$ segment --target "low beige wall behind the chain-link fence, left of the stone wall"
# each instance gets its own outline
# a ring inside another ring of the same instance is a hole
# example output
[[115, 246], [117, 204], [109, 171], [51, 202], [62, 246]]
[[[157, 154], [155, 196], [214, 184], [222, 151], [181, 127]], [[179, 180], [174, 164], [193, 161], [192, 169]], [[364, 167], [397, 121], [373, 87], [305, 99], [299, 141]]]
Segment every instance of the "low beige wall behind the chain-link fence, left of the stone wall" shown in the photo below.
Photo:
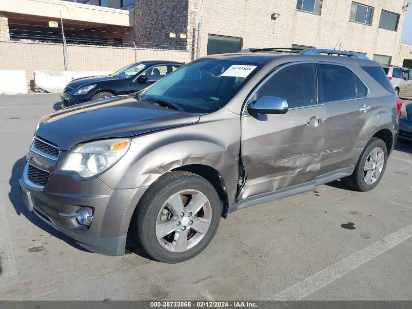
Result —
[[[137, 61], [190, 62], [191, 53], [177, 50], [134, 49], [91, 45], [68, 45], [68, 69], [73, 71], [117, 71]], [[35, 70], [63, 71], [62, 44], [0, 41], [0, 69], [26, 71], [26, 85], [34, 89]]]

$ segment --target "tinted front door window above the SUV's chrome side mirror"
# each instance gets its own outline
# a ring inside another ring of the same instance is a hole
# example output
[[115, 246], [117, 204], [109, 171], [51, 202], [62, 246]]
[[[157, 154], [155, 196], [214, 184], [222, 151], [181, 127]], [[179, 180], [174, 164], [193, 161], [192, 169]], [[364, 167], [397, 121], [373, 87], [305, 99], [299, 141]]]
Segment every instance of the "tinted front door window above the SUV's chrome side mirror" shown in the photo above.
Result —
[[295, 64], [281, 69], [259, 88], [254, 99], [263, 96], [286, 99], [289, 108], [316, 104], [314, 64]]

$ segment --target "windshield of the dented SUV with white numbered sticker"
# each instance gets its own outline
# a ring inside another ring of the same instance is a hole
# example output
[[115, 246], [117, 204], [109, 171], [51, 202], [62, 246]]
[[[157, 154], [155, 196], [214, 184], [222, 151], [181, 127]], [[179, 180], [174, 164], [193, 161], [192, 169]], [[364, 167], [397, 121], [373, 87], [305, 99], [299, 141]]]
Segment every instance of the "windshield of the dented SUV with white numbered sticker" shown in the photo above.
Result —
[[228, 103], [258, 67], [256, 63], [204, 59], [167, 75], [141, 97], [172, 102], [186, 112], [210, 113]]

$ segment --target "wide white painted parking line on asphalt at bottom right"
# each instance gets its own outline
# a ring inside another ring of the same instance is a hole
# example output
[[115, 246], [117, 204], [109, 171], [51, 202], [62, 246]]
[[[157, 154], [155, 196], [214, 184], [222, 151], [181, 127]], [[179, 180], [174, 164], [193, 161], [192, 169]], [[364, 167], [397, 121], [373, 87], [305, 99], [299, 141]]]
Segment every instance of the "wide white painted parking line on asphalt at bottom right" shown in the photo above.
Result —
[[412, 224], [286, 288], [268, 300], [300, 300], [411, 237]]

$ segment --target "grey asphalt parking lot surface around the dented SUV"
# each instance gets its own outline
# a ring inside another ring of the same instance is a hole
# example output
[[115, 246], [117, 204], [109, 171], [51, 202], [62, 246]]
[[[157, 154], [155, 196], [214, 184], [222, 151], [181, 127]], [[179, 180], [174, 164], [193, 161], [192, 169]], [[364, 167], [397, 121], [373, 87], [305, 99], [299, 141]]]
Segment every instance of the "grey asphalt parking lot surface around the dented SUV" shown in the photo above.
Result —
[[168, 265], [133, 243], [85, 251], [27, 211], [24, 156], [54, 108], [56, 94], [0, 96], [0, 300], [412, 300], [412, 144], [373, 191], [336, 181], [236, 211], [199, 256]]

